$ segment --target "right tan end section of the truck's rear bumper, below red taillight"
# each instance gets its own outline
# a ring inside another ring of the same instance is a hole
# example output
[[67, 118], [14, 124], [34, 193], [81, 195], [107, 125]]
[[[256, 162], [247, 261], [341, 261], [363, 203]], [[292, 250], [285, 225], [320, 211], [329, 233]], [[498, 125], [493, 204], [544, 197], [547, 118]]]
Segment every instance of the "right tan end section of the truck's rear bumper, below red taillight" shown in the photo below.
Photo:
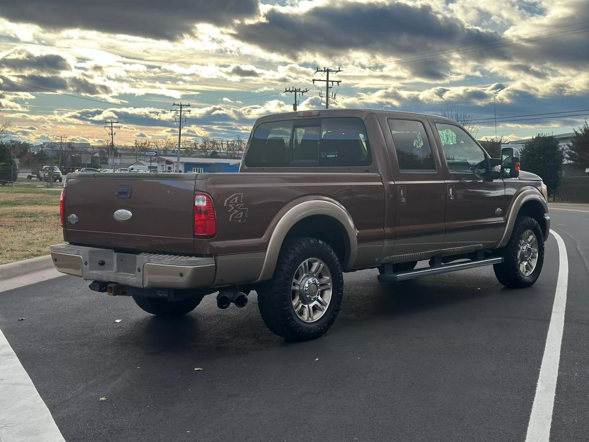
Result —
[[215, 265], [170, 266], [147, 263], [143, 266], [143, 287], [185, 289], [209, 287], [215, 278]]

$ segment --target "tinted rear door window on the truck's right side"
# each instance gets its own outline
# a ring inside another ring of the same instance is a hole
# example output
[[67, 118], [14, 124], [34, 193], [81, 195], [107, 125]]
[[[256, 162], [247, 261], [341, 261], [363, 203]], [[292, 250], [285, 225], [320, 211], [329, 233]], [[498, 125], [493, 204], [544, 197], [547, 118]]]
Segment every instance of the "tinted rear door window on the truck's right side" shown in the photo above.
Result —
[[436, 170], [432, 149], [421, 121], [388, 120], [399, 170]]

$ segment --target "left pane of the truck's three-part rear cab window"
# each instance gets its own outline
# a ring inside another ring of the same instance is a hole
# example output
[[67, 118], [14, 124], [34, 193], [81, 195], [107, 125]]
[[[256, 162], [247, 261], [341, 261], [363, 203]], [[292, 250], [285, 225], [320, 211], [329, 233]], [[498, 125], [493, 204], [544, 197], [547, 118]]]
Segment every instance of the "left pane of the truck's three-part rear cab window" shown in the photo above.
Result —
[[246, 166], [289, 166], [292, 128], [292, 121], [270, 121], [260, 124], [247, 150]]

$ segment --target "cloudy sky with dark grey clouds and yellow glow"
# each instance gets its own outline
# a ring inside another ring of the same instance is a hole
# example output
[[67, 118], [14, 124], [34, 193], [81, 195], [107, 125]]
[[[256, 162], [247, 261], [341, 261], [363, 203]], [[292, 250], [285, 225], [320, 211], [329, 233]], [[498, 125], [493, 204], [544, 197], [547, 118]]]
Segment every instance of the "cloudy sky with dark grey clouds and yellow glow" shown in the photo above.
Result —
[[292, 110], [285, 87], [309, 88], [301, 109], [325, 105], [317, 66], [343, 70], [331, 107], [452, 104], [479, 138], [495, 134], [494, 95], [508, 139], [589, 116], [588, 0], [127, 3], [0, 2], [0, 114], [16, 137], [97, 143], [107, 119], [120, 121], [117, 143], [175, 136], [179, 101], [187, 137], [248, 133]]

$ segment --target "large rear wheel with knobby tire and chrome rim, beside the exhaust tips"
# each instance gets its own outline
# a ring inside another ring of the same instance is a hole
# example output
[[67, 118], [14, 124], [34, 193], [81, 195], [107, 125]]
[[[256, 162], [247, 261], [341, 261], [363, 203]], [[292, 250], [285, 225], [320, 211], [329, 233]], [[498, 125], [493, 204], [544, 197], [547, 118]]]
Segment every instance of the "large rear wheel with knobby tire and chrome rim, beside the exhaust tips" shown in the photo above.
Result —
[[342, 266], [320, 239], [287, 239], [274, 276], [257, 293], [270, 331], [292, 341], [319, 338], [335, 322], [342, 304]]

